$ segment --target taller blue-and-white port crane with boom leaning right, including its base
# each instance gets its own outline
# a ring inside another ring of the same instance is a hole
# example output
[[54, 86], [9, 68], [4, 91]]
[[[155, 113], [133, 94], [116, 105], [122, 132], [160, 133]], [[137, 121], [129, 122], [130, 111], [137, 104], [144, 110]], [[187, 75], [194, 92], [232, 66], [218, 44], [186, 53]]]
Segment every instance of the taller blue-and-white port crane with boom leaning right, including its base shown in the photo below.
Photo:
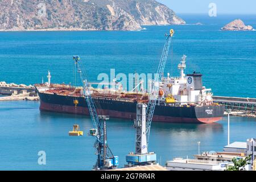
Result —
[[156, 154], [148, 152], [148, 139], [150, 136], [150, 127], [154, 115], [156, 100], [158, 99], [159, 83], [162, 80], [164, 68], [168, 57], [168, 52], [172, 42], [174, 30], [170, 30], [170, 34], [166, 34], [166, 43], [164, 44], [162, 56], [158, 65], [158, 71], [154, 77], [153, 86], [150, 93], [148, 104], [137, 104], [137, 117], [134, 119], [134, 127], [136, 129], [135, 154], [130, 152], [126, 155], [126, 167], [143, 166], [155, 163]]

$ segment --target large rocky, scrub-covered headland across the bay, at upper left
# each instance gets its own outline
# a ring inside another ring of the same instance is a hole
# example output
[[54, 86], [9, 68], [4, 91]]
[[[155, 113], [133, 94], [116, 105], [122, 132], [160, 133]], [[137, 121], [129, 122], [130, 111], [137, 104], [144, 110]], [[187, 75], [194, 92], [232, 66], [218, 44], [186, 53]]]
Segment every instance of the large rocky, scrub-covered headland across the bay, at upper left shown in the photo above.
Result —
[[1, 31], [139, 30], [185, 23], [155, 0], [2, 0], [0, 5]]

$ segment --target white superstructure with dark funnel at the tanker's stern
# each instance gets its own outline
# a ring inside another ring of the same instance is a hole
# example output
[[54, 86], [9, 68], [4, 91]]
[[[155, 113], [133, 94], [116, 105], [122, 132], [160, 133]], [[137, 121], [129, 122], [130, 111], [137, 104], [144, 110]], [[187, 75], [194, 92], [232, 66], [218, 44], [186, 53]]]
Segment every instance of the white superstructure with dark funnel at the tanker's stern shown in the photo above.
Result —
[[[211, 105], [212, 90], [206, 89], [202, 84], [202, 75], [197, 72], [185, 75], [186, 57], [183, 55], [180, 64], [177, 66], [180, 69], [179, 77], [162, 78], [160, 83], [160, 100], [165, 98], [173, 98], [175, 102], [172, 105]], [[168, 102], [167, 102], [168, 104]]]

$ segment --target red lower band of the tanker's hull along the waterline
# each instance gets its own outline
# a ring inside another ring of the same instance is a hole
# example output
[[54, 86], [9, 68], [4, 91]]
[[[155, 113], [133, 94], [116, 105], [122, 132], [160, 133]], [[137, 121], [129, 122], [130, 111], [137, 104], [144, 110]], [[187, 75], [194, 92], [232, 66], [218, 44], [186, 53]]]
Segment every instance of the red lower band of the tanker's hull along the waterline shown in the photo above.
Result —
[[[40, 101], [40, 110], [44, 111], [53, 111], [59, 113], [77, 113], [77, 114], [85, 114], [89, 115], [89, 110], [87, 107], [80, 106], [67, 106], [67, 105], [58, 105], [58, 104], [48, 104], [46, 102]], [[116, 110], [105, 110], [99, 109], [97, 110], [98, 114], [101, 115], [109, 115], [109, 117], [113, 118], [122, 118], [122, 119], [135, 119], [135, 113], [127, 113]], [[175, 122], [175, 123], [213, 123], [217, 122], [222, 117], [216, 118], [181, 118], [181, 117], [171, 117], [171, 116], [162, 116], [162, 115], [154, 115], [152, 121], [156, 122]]]

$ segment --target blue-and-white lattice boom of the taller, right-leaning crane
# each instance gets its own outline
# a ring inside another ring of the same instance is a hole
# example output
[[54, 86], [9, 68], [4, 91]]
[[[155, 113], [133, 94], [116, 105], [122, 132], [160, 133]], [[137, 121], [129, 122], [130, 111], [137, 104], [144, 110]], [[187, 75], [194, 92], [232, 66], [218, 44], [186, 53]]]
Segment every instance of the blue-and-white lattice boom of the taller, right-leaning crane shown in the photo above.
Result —
[[153, 88], [150, 95], [150, 100], [147, 104], [147, 110], [146, 110], [146, 133], [147, 133], [147, 145], [148, 145], [148, 139], [150, 136], [150, 128], [151, 128], [151, 122], [154, 115], [156, 100], [158, 98], [158, 92], [159, 92], [159, 82], [162, 80], [163, 74], [164, 74], [164, 68], [166, 67], [166, 61], [168, 57], [168, 52], [171, 46], [171, 40], [172, 36], [174, 35], [174, 30], [170, 30], [170, 34], [166, 34], [166, 43], [164, 44], [162, 56], [158, 65], [158, 71], [156, 72], [154, 82], [153, 82]]

